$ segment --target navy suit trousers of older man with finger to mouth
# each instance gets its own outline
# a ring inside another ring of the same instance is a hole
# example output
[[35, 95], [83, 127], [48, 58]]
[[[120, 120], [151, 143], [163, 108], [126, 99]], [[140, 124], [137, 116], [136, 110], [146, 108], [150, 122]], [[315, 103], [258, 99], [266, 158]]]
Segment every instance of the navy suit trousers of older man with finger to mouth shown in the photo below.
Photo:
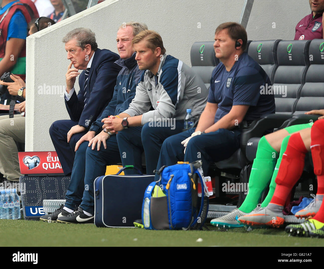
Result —
[[78, 125], [77, 121], [67, 119], [54, 121], [50, 127], [50, 136], [62, 165], [64, 175], [71, 174], [75, 157], [75, 144], [83, 135], [87, 133], [87, 131], [85, 131], [74, 134], [68, 143], [67, 132], [75, 125]]

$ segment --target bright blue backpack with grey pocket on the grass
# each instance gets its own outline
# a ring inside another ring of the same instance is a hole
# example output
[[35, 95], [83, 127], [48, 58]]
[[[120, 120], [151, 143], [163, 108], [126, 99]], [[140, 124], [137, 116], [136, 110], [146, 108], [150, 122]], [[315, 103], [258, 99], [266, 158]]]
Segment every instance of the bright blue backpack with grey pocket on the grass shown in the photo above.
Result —
[[[202, 161], [178, 162], [163, 166], [158, 181], [147, 186], [142, 220], [145, 229], [202, 229], [208, 213], [208, 191], [204, 182]], [[198, 182], [202, 197], [198, 197]]]

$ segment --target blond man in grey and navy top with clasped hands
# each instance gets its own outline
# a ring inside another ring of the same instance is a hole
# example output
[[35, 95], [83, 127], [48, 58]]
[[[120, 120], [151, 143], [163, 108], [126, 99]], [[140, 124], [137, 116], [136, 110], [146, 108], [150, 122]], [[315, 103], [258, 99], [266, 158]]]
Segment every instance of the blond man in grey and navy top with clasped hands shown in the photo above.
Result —
[[[201, 115], [208, 92], [203, 80], [189, 66], [166, 55], [158, 33], [143, 31], [132, 43], [139, 68], [146, 70], [129, 108], [118, 115], [120, 118], [105, 120], [104, 127], [118, 132], [123, 166], [140, 160], [144, 148], [146, 173], [153, 174], [163, 141], [182, 131], [187, 108], [191, 108], [193, 117]], [[141, 133], [135, 134], [136, 126], [143, 126]], [[126, 170], [125, 174], [128, 173], [132, 172]]]

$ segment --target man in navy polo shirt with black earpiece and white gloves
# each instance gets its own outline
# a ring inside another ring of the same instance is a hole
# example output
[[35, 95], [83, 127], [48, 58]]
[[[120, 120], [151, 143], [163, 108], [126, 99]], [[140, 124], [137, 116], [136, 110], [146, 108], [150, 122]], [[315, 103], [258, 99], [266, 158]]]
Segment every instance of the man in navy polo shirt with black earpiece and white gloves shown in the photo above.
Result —
[[[157, 170], [178, 161], [209, 162], [229, 158], [238, 148], [241, 126], [275, 112], [274, 96], [260, 89], [271, 81], [246, 52], [247, 33], [236, 22], [220, 24], [215, 31], [215, 67], [206, 107], [196, 128], [167, 138], [162, 145]], [[158, 179], [158, 175], [156, 175]]]

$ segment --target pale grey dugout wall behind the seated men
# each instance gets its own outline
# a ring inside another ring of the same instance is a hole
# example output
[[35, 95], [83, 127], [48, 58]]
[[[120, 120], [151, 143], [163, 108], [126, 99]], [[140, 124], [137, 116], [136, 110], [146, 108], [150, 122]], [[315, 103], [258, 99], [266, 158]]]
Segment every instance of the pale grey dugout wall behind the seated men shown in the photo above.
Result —
[[[117, 53], [116, 33], [123, 22], [139, 21], [159, 32], [167, 53], [190, 66], [196, 41], [213, 41], [220, 23], [239, 21], [244, 0], [106, 0], [27, 38], [26, 151], [52, 151], [53, 121], [68, 119], [63, 92], [69, 60], [62, 37], [88, 27], [99, 48]], [[310, 14], [308, 1], [255, 0], [247, 26], [249, 40], [294, 39], [295, 26]], [[78, 91], [76, 81], [75, 88]]]

